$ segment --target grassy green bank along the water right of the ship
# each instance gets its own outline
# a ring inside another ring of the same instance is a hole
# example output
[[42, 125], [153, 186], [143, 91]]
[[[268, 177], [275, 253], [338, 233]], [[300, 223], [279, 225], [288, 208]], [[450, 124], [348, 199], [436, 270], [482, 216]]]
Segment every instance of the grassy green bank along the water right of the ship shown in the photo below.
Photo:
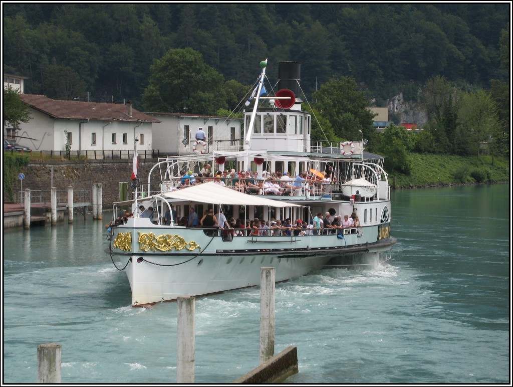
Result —
[[491, 156], [460, 157], [408, 154], [410, 175], [392, 172], [397, 187], [426, 187], [452, 184], [499, 183], [509, 181], [509, 159]]

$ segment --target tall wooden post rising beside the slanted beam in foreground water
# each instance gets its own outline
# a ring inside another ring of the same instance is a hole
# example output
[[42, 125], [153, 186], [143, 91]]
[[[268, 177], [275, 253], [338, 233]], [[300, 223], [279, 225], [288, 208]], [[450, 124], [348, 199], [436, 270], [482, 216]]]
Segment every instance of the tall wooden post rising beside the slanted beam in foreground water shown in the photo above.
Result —
[[261, 267], [260, 275], [260, 364], [274, 356], [275, 267]]

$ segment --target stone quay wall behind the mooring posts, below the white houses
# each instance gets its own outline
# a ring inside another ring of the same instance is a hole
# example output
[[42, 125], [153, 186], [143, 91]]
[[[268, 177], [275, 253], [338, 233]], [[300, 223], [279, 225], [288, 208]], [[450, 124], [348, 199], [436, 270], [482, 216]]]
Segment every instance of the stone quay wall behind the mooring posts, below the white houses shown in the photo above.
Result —
[[[147, 182], [148, 173], [155, 165], [156, 159], [139, 160], [139, 177], [141, 183]], [[73, 187], [74, 200], [77, 201], [77, 191], [92, 190], [93, 184], [102, 184], [103, 209], [112, 208], [112, 203], [119, 200], [119, 183], [130, 182], [132, 175], [132, 160], [76, 160], [76, 161], [45, 161], [31, 162], [19, 172], [24, 173], [23, 189], [50, 190], [52, 185], [57, 190], [67, 190]], [[157, 172], [158, 173], [158, 172]], [[146, 186], [145, 186], [146, 188]], [[156, 190], [157, 185], [151, 186]], [[14, 190], [19, 197], [21, 181], [16, 179]], [[129, 188], [131, 193], [131, 188]], [[6, 198], [4, 192], [4, 198]]]

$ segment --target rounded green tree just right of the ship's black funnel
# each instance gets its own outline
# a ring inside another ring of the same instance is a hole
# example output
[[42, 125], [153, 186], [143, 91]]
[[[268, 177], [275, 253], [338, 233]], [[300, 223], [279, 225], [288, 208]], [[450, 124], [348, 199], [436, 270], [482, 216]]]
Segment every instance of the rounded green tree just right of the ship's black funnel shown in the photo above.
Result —
[[313, 93], [313, 100], [317, 101], [313, 107], [330, 122], [334, 134], [341, 139], [360, 139], [359, 130], [364, 136], [374, 130], [374, 113], [367, 109], [370, 102], [358, 90], [354, 78], [330, 79]]

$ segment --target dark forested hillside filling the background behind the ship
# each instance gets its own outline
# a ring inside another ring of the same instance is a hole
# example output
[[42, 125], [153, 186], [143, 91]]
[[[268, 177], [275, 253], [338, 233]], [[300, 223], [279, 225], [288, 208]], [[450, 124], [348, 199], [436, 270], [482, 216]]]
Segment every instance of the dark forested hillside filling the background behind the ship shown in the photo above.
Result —
[[142, 107], [150, 65], [190, 47], [225, 81], [251, 85], [258, 64], [302, 62], [307, 95], [353, 77], [383, 105], [444, 76], [462, 89], [508, 82], [499, 41], [510, 4], [3, 4], [4, 71], [26, 93]]

